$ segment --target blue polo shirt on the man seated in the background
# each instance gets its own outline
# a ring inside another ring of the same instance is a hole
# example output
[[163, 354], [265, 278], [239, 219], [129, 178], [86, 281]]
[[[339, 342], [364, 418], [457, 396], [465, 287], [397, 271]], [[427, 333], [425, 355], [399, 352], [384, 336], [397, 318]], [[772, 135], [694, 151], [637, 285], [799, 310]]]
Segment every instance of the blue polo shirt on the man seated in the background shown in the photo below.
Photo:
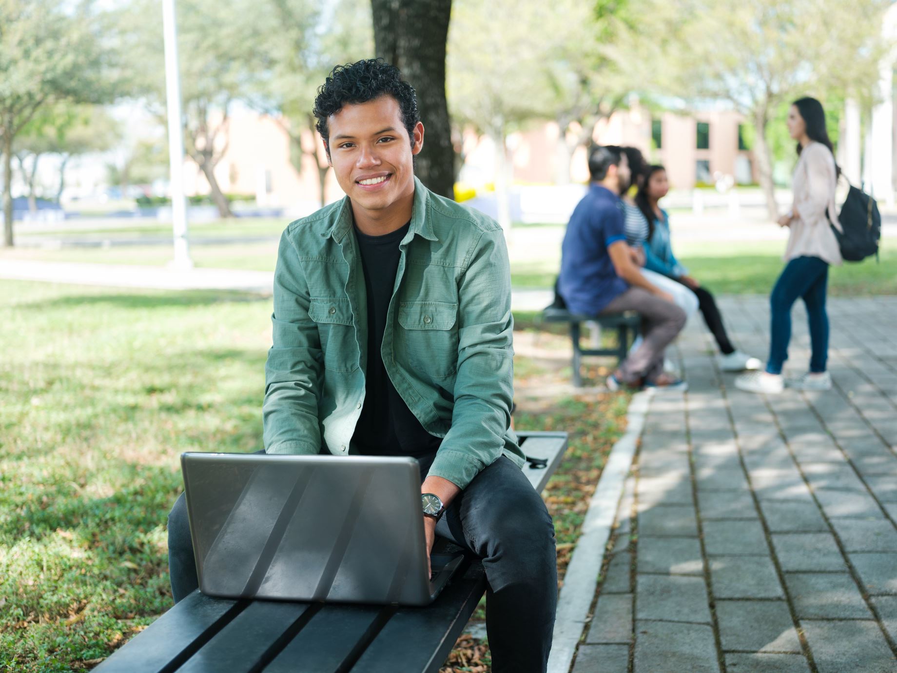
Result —
[[623, 202], [610, 189], [593, 184], [570, 215], [563, 237], [559, 289], [570, 311], [597, 315], [629, 289], [607, 253], [618, 240], [626, 240]]

